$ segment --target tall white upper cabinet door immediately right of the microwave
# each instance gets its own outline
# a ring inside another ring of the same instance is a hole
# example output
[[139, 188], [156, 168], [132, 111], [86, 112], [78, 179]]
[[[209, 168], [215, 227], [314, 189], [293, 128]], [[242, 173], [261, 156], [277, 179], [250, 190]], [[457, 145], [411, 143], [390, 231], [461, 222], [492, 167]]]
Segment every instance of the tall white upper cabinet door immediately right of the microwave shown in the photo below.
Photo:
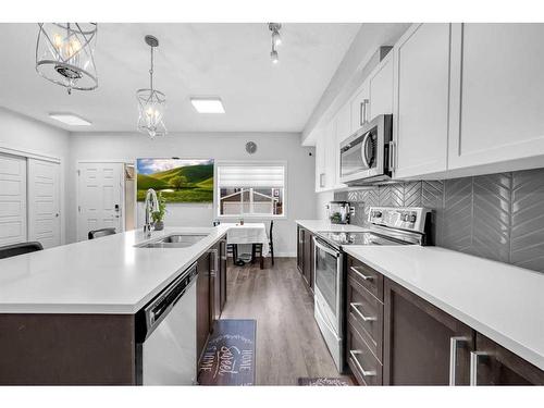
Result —
[[411, 26], [393, 48], [395, 178], [446, 170], [449, 24]]

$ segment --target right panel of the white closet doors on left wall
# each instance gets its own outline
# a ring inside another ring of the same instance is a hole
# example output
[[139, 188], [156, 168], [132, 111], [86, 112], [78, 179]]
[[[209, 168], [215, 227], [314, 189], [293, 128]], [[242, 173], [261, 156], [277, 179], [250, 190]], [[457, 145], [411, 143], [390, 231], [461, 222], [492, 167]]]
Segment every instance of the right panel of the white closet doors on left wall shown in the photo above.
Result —
[[59, 163], [28, 159], [28, 240], [61, 245]]

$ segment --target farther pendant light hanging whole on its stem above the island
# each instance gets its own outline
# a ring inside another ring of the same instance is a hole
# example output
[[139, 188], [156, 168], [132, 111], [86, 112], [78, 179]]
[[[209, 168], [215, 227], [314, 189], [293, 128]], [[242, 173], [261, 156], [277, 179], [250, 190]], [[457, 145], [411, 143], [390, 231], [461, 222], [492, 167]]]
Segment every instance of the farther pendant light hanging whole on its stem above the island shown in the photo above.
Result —
[[149, 70], [149, 88], [136, 91], [139, 110], [138, 132], [154, 138], [166, 135], [163, 122], [166, 96], [153, 88], [153, 49], [159, 47], [159, 40], [153, 36], [146, 36], [145, 41], [151, 48], [151, 69]]

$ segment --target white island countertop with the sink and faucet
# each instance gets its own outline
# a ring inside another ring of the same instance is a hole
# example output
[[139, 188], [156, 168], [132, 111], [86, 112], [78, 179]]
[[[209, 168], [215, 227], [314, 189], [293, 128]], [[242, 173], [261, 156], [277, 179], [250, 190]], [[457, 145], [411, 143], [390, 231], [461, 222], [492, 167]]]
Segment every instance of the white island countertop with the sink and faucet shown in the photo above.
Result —
[[[0, 259], [0, 313], [135, 313], [227, 228], [129, 231]], [[187, 248], [134, 247], [173, 233], [209, 235]]]

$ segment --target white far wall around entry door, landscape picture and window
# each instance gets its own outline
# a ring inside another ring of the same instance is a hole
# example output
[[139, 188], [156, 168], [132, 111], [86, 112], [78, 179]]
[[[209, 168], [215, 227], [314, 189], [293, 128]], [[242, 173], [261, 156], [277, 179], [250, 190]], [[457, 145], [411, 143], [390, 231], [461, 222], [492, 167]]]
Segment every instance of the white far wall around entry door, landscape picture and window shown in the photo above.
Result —
[[[252, 140], [255, 154], [245, 151]], [[309, 153], [312, 156], [309, 156]], [[296, 219], [316, 218], [313, 148], [300, 146], [296, 133], [177, 133], [150, 140], [137, 133], [73, 133], [70, 138], [69, 240], [76, 237], [76, 163], [79, 160], [134, 161], [146, 157], [180, 157], [215, 160], [287, 161], [287, 217], [274, 221], [274, 249], [277, 256], [296, 254]], [[169, 205], [168, 225], [210, 226], [212, 205]], [[267, 224], [269, 223], [265, 220]]]

